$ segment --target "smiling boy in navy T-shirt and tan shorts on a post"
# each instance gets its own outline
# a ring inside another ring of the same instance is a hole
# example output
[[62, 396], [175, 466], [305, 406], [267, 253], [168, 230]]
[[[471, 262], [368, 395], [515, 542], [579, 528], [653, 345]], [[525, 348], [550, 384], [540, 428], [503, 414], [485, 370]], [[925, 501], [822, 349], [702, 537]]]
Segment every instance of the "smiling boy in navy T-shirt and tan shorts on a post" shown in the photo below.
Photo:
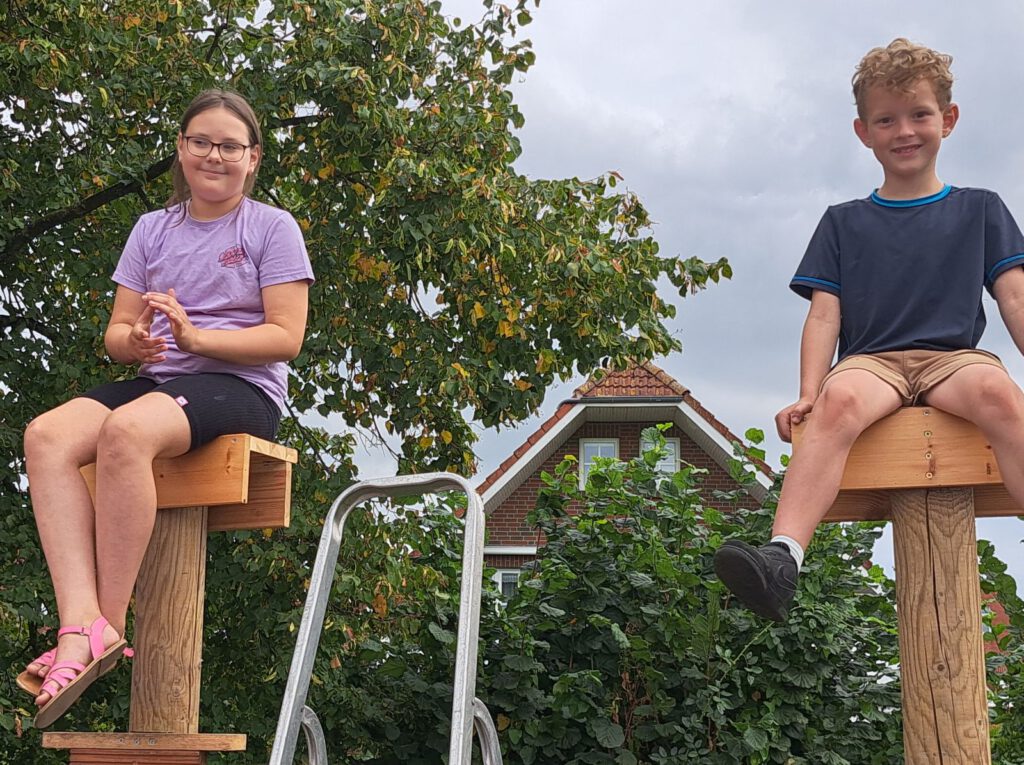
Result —
[[867, 199], [828, 208], [790, 285], [811, 305], [800, 399], [775, 424], [784, 441], [805, 418], [807, 429], [782, 483], [773, 537], [760, 548], [729, 541], [715, 555], [736, 597], [777, 622], [850, 448], [900, 407], [927, 405], [977, 425], [1024, 505], [1024, 394], [998, 358], [976, 349], [985, 288], [1024, 351], [1024, 237], [995, 194], [936, 175], [942, 139], [959, 117], [951, 60], [899, 38], [870, 50], [853, 77], [853, 128], [884, 181]]

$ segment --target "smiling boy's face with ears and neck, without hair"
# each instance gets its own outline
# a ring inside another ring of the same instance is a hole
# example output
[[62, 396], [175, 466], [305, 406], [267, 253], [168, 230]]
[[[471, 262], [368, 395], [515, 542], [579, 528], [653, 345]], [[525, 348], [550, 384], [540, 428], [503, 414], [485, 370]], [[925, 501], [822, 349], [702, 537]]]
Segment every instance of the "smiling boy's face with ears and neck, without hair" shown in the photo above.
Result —
[[952, 131], [958, 117], [955, 103], [939, 107], [927, 80], [920, 80], [910, 93], [882, 86], [868, 90], [864, 117], [854, 120], [853, 128], [885, 172], [879, 194], [890, 199], [912, 199], [941, 190], [935, 162], [942, 139]]

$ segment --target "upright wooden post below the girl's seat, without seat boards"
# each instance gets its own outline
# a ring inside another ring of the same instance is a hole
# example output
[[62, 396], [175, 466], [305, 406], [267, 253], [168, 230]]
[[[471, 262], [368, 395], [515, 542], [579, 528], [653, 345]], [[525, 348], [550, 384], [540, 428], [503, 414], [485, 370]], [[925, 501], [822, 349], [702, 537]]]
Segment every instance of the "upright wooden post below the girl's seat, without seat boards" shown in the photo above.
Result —
[[129, 731], [198, 733], [207, 509], [157, 513], [135, 583]]

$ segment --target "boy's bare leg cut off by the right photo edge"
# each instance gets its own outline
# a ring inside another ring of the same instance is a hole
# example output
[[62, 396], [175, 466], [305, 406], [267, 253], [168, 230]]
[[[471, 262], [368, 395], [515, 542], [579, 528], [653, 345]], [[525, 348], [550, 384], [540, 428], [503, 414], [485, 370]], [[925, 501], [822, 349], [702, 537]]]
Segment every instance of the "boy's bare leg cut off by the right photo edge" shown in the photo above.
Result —
[[928, 391], [925, 401], [981, 429], [1007, 491], [1024, 506], [1024, 393], [1010, 375], [993, 365], [973, 364]]

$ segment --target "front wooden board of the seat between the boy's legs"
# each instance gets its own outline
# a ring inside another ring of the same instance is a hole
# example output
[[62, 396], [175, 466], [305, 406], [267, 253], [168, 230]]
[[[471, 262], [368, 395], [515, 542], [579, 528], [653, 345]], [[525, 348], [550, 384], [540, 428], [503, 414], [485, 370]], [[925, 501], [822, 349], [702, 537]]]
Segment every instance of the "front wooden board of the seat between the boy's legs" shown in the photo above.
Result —
[[[804, 428], [801, 424], [794, 429], [794, 452], [803, 441]], [[860, 435], [840, 490], [1000, 483], [992, 448], [977, 427], [931, 407], [907, 407]]]

